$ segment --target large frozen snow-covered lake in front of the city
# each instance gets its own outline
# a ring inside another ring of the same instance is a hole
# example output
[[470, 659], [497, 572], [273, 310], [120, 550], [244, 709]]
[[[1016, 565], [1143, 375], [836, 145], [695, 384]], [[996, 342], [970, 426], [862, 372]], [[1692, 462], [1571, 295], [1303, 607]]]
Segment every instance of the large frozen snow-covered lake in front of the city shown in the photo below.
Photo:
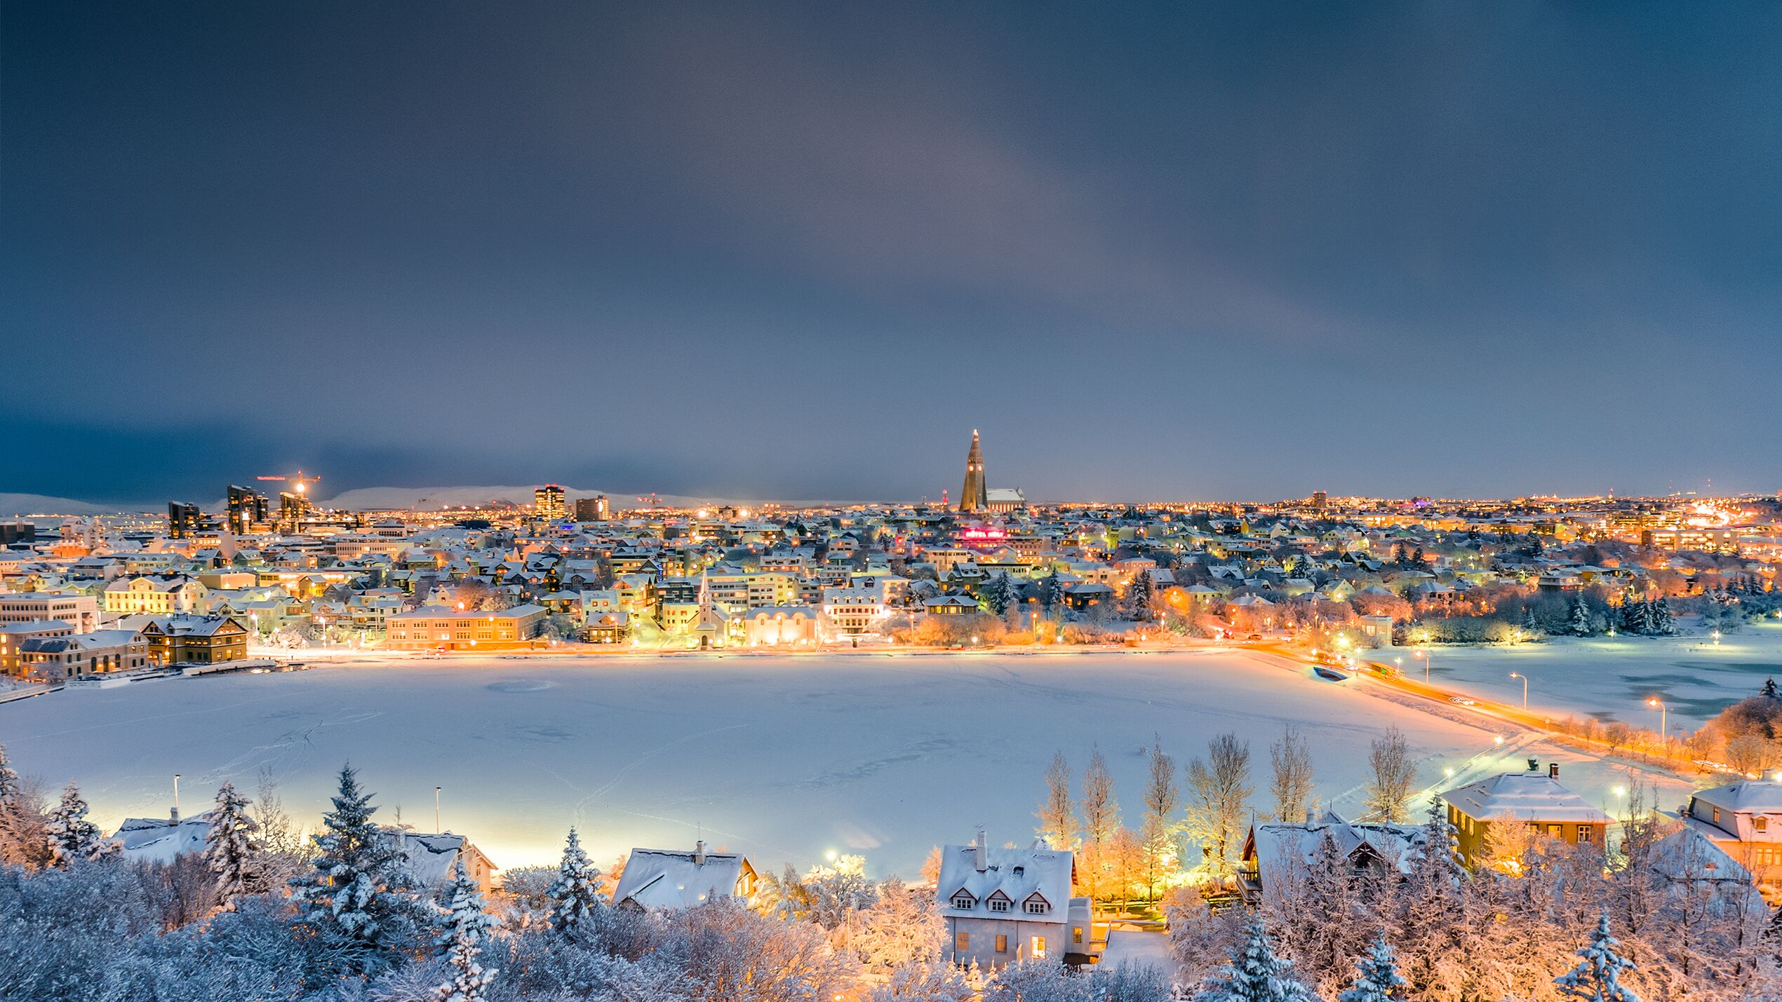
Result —
[[[1214, 733], [1246, 737], [1262, 804], [1267, 746], [1297, 723], [1319, 797], [1349, 815], [1367, 746], [1394, 723], [1429, 785], [1447, 785], [1445, 769], [1467, 780], [1554, 753], [1525, 735], [1497, 746], [1488, 723], [1356, 685], [1221, 650], [356, 662], [0, 705], [0, 742], [27, 774], [77, 780], [107, 828], [164, 815], [175, 772], [187, 813], [225, 780], [251, 796], [262, 764], [287, 810], [314, 824], [351, 760], [380, 819], [401, 808], [431, 829], [444, 787], [444, 828], [506, 867], [552, 860], [574, 822], [602, 865], [631, 845], [704, 836], [775, 869], [836, 849], [909, 876], [930, 845], [966, 842], [977, 824], [998, 844], [1032, 838], [1053, 749], [1080, 772], [1099, 744], [1133, 826], [1153, 733], [1178, 762]], [[1557, 756], [1574, 788], [1613, 806], [1623, 774]]]

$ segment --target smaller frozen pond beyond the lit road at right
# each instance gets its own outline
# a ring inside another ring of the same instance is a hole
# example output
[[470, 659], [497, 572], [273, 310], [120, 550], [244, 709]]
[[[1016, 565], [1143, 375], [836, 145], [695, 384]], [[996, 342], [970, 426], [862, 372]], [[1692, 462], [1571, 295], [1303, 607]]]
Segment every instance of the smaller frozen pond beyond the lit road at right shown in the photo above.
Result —
[[[1782, 623], [1764, 619], [1721, 634], [1688, 637], [1561, 637], [1540, 644], [1427, 648], [1431, 678], [1452, 689], [1509, 705], [1522, 701], [1529, 676], [1529, 708], [1556, 715], [1595, 715], [1657, 730], [1659, 698], [1670, 707], [1673, 735], [1702, 726], [1709, 717], [1757, 692], [1764, 678], [1782, 683]], [[1410, 651], [1399, 657], [1408, 675], [1422, 671]]]

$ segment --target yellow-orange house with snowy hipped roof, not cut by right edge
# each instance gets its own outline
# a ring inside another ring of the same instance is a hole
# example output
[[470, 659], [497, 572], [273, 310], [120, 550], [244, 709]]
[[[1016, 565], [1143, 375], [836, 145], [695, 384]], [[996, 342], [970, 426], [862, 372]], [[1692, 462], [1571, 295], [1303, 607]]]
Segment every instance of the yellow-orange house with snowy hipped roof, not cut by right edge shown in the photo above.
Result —
[[1529, 758], [1525, 772], [1504, 772], [1442, 794], [1449, 822], [1458, 831], [1459, 854], [1468, 867], [1486, 861], [1492, 826], [1525, 824], [1549, 838], [1572, 845], [1602, 845], [1609, 815], [1559, 785], [1559, 764], [1541, 771]]

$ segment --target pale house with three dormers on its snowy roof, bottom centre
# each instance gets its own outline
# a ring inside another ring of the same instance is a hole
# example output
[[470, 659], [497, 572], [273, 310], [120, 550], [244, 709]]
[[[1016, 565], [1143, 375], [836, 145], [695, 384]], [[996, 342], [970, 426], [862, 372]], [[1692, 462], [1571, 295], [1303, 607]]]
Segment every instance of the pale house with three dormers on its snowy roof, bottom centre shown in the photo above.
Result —
[[1089, 963], [1089, 899], [1071, 897], [1075, 879], [1076, 854], [1044, 842], [991, 849], [978, 829], [969, 845], [943, 845], [936, 895], [946, 958], [980, 968], [1025, 959]]

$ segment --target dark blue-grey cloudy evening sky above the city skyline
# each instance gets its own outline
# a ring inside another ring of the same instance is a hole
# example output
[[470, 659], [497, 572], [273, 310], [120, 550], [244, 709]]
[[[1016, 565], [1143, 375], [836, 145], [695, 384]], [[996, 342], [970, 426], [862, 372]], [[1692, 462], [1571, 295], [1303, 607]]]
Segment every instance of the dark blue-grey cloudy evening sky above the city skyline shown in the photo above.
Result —
[[0, 491], [914, 498], [973, 427], [1037, 498], [1782, 486], [1777, 4], [9, 0], [0, 43]]

